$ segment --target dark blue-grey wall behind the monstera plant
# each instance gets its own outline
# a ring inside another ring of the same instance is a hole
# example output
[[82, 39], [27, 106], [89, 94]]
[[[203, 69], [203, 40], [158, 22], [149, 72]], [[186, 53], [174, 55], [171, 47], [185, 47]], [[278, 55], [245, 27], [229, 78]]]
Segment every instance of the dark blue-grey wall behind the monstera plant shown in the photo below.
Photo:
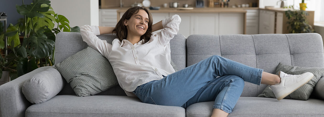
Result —
[[[32, 0], [24, 0], [24, 3], [30, 4], [32, 3]], [[22, 0], [1, 0], [0, 2], [0, 12], [5, 12], [7, 14], [6, 27], [8, 27], [10, 23], [15, 25], [19, 18], [24, 18], [23, 15], [20, 15], [17, 12], [16, 4], [20, 6], [22, 4]]]

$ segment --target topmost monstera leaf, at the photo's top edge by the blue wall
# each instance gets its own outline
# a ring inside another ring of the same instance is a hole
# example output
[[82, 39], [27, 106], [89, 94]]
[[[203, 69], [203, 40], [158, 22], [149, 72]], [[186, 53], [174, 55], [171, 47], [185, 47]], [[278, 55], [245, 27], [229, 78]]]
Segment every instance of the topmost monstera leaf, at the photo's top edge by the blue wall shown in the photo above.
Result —
[[[50, 8], [51, 1], [49, 0], [33, 0], [32, 4], [22, 4], [21, 6], [16, 4], [17, 12], [21, 15], [26, 15], [29, 18], [33, 17], [45, 17], [44, 14], [39, 12], [47, 12]], [[41, 7], [41, 4], [47, 4], [47, 7]]]

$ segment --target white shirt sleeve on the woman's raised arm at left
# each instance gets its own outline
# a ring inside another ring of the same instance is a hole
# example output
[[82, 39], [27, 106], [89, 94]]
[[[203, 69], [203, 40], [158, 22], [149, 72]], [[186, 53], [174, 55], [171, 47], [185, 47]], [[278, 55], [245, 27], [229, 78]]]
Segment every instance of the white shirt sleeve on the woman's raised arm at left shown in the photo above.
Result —
[[93, 49], [96, 49], [106, 58], [108, 57], [112, 45], [106, 40], [101, 40], [97, 37], [97, 35], [100, 35], [98, 26], [84, 25], [80, 27], [80, 32], [83, 41], [85, 41]]

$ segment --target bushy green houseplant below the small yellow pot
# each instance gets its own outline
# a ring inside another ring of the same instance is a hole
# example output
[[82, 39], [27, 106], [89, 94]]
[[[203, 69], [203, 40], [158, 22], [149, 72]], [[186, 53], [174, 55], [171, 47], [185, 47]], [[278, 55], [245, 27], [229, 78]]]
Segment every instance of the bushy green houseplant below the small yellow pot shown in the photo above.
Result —
[[286, 17], [288, 18], [287, 23], [288, 30], [290, 33], [310, 33], [315, 32], [311, 25], [309, 25], [306, 15], [306, 11], [291, 11], [288, 10], [285, 12]]

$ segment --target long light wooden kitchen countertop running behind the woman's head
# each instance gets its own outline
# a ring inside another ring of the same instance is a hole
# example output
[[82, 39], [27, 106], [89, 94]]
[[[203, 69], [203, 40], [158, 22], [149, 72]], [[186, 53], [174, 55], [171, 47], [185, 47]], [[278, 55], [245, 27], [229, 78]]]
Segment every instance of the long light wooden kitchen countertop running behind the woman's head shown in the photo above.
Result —
[[[118, 9], [117, 12], [126, 12], [130, 7], [110, 7], [105, 9]], [[193, 7], [192, 10], [177, 10], [175, 8], [160, 8], [159, 10], [149, 10], [151, 13], [246, 13], [245, 9], [259, 9], [258, 7], [245, 8], [219, 8], [219, 7]]]

